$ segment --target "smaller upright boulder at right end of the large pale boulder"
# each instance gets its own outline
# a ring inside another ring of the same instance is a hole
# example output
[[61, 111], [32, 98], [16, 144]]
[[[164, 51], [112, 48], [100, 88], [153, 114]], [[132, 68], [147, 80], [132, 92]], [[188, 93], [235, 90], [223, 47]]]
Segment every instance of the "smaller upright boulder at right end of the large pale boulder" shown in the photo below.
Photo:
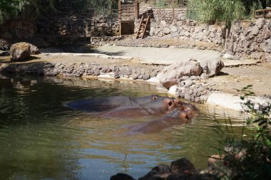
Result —
[[200, 65], [203, 68], [203, 73], [209, 78], [217, 75], [224, 68], [224, 63], [220, 59], [205, 60], [200, 62]]

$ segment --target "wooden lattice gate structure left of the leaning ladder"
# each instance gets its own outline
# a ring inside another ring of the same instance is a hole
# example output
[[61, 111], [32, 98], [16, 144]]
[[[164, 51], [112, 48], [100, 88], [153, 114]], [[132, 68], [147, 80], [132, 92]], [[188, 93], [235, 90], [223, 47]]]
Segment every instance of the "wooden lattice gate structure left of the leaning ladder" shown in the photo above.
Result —
[[138, 16], [138, 0], [132, 3], [123, 3], [118, 0], [118, 22], [121, 23], [121, 35], [133, 34], [134, 23]]

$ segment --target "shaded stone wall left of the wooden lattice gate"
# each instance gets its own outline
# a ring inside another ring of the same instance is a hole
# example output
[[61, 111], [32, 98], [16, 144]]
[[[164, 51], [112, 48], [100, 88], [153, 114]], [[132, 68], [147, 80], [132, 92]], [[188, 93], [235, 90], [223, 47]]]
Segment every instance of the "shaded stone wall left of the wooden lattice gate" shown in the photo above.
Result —
[[[94, 36], [118, 36], [119, 34], [120, 24], [117, 18], [106, 16], [92, 18], [91, 15], [79, 16], [66, 13], [50, 14], [36, 21], [14, 19], [0, 26], [0, 49], [8, 50], [9, 44], [18, 41], [46, 47], [71, 45], [81, 41], [89, 42]], [[3, 43], [6, 41], [8, 43]]]

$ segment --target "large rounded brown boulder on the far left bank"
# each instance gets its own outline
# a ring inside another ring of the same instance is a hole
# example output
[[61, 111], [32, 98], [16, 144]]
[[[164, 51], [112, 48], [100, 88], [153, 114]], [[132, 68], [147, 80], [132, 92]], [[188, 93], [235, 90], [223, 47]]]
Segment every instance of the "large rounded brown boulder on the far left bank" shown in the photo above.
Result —
[[11, 46], [11, 60], [24, 60], [29, 58], [31, 53], [31, 46], [29, 43], [14, 43]]

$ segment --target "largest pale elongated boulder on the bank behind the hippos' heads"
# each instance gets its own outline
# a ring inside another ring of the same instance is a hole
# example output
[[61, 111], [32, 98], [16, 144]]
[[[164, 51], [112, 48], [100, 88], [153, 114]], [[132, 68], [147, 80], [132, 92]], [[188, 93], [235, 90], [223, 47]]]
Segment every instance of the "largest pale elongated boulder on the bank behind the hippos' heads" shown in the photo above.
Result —
[[178, 79], [183, 76], [200, 75], [203, 68], [200, 66], [197, 60], [186, 60], [178, 63], [173, 63], [165, 67], [157, 76], [160, 83], [165, 88], [170, 88], [172, 85], [178, 83]]

